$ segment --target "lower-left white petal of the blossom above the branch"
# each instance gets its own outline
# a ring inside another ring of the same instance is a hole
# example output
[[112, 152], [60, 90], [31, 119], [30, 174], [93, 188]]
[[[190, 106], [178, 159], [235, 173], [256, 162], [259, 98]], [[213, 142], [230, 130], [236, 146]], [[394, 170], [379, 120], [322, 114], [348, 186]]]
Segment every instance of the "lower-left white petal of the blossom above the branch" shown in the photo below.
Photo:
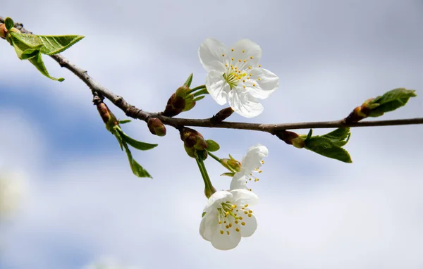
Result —
[[206, 77], [206, 88], [217, 104], [226, 104], [226, 96], [228, 96], [228, 92], [231, 92], [231, 87], [223, 78], [223, 72], [216, 70], [210, 71]]

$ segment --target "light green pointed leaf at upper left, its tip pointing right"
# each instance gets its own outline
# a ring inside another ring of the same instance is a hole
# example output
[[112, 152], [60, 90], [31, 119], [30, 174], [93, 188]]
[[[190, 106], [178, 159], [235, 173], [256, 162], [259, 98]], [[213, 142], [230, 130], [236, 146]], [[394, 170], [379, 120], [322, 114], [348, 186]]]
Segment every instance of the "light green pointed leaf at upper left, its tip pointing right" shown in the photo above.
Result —
[[82, 35], [37, 35], [37, 37], [43, 44], [41, 53], [47, 55], [60, 54], [84, 38]]

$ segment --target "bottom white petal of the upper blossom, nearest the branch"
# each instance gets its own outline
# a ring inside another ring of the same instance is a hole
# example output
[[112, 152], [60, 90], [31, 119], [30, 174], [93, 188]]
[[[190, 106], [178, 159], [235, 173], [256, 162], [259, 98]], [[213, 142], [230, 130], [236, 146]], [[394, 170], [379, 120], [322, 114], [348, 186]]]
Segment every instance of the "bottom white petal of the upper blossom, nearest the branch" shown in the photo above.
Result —
[[245, 118], [255, 117], [264, 109], [255, 97], [242, 89], [232, 89], [228, 94], [228, 100], [231, 108]]

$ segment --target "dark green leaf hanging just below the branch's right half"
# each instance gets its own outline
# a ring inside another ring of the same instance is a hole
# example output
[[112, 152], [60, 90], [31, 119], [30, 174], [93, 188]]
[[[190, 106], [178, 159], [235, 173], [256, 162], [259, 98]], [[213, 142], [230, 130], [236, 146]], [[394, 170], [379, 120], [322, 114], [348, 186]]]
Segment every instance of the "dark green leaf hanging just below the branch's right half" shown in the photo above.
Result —
[[348, 151], [333, 143], [331, 139], [323, 136], [311, 137], [305, 140], [305, 149], [314, 151], [315, 153], [328, 158], [343, 161], [344, 163], [353, 163]]

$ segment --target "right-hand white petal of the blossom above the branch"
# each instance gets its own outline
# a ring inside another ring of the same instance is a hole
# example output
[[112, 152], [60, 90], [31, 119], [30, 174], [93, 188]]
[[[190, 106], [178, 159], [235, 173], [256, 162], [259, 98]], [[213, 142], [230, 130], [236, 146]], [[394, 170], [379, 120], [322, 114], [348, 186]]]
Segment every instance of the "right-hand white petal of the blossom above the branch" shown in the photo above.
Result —
[[250, 93], [256, 98], [265, 99], [279, 87], [279, 77], [269, 70], [252, 68], [250, 74], [252, 80], [248, 81], [250, 83], [246, 83], [246, 85], [252, 87], [252, 84], [255, 84], [255, 87], [252, 87], [254, 90]]

